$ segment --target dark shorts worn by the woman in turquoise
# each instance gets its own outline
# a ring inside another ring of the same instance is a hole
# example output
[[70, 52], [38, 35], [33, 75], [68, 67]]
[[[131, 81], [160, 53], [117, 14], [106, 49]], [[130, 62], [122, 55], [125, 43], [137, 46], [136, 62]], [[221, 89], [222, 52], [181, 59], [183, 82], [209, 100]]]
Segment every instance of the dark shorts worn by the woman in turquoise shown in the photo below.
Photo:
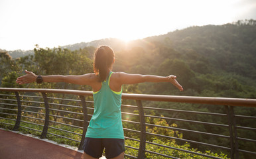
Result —
[[105, 148], [105, 157], [114, 158], [125, 151], [125, 140], [119, 138], [85, 138], [83, 149], [86, 154], [100, 158]]

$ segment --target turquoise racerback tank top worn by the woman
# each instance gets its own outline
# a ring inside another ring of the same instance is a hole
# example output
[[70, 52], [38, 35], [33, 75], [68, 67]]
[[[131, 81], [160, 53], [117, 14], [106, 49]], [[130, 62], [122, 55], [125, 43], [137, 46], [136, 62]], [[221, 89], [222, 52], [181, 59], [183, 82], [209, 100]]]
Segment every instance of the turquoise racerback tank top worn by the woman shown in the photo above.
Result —
[[121, 138], [124, 139], [121, 121], [121, 95], [109, 87], [109, 79], [113, 72], [101, 82], [101, 89], [94, 92], [94, 115], [88, 126], [86, 137], [89, 138]]

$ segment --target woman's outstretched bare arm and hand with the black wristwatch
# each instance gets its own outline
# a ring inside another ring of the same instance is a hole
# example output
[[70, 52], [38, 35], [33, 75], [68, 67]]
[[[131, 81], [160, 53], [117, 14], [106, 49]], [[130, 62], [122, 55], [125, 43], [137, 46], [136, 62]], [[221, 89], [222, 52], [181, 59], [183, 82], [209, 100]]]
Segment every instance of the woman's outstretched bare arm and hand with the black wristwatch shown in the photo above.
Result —
[[[24, 84], [24, 83], [32, 83], [36, 81], [37, 75], [33, 72], [29, 72], [25, 70], [26, 75], [17, 78], [16, 83]], [[63, 75], [49, 75], [42, 76], [43, 82], [66, 82], [66, 83], [74, 83], [80, 85], [92, 85], [94, 80], [94, 74], [84, 74], [80, 76], [63, 76]]]

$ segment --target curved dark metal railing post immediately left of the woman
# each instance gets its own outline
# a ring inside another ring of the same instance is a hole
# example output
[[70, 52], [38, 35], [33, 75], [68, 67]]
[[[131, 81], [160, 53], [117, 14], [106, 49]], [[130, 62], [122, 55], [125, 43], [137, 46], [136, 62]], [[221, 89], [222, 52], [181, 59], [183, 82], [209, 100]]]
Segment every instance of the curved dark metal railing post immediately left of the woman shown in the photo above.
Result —
[[83, 113], [84, 113], [84, 129], [83, 129], [83, 134], [82, 134], [82, 139], [79, 145], [78, 150], [82, 150], [83, 149], [83, 144], [84, 144], [84, 139], [86, 138], [86, 131], [88, 128], [88, 111], [87, 111], [87, 107], [86, 107], [86, 99], [84, 97], [84, 95], [79, 95], [80, 99], [81, 99], [81, 104], [83, 107]]

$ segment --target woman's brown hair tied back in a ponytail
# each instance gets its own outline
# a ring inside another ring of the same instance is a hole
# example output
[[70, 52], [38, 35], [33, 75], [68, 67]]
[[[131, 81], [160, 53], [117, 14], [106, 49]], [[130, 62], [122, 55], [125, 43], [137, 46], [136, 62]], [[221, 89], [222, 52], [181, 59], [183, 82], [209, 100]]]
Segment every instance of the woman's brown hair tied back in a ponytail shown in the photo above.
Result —
[[109, 46], [100, 46], [94, 53], [94, 73], [99, 81], [107, 79], [107, 71], [113, 64], [115, 55]]

